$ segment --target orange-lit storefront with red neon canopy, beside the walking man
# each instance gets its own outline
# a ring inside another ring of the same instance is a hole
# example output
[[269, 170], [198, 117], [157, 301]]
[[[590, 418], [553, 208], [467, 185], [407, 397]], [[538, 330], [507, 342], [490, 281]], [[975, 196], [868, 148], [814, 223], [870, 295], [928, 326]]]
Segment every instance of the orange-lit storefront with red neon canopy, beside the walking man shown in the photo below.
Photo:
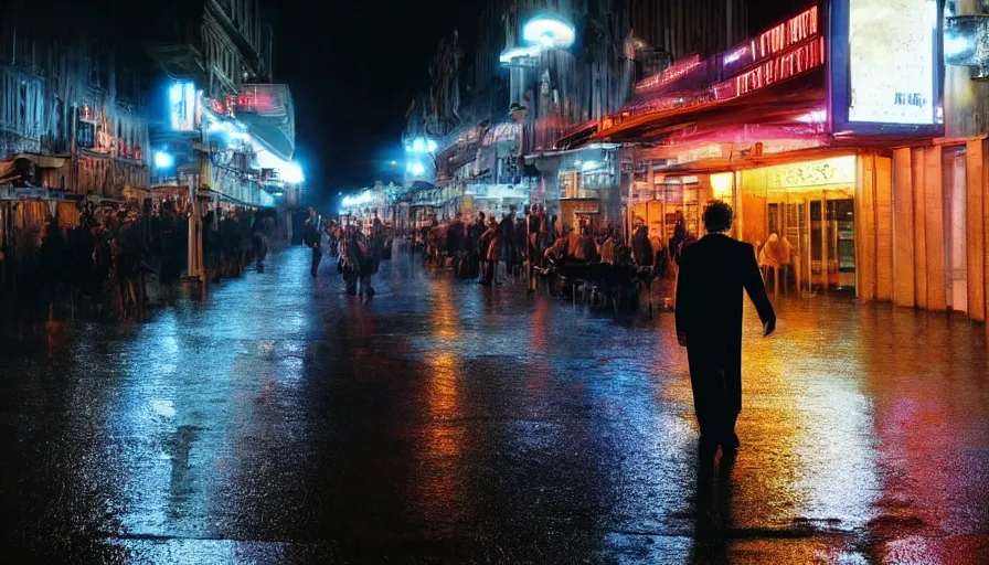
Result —
[[703, 236], [721, 199], [734, 236], [785, 242], [793, 288], [985, 320], [989, 145], [945, 137], [942, 28], [935, 0], [825, 1], [674, 63], [584, 137], [637, 145], [629, 222], [655, 241]]

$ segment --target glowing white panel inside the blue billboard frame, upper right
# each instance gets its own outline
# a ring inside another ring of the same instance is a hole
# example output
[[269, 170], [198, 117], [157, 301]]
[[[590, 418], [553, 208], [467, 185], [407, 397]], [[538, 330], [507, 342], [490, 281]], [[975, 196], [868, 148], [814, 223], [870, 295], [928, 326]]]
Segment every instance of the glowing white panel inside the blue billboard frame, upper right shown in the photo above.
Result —
[[936, 0], [849, 1], [849, 121], [935, 122], [936, 31]]

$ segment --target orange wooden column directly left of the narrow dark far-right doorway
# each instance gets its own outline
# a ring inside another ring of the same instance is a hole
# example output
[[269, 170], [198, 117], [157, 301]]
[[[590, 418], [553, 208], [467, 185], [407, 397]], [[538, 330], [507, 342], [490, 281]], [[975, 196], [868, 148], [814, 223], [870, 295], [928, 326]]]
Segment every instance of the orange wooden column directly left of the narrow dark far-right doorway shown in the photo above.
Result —
[[945, 196], [942, 178], [942, 148], [924, 150], [924, 201], [927, 227], [927, 309], [947, 310], [947, 286], [945, 282]]

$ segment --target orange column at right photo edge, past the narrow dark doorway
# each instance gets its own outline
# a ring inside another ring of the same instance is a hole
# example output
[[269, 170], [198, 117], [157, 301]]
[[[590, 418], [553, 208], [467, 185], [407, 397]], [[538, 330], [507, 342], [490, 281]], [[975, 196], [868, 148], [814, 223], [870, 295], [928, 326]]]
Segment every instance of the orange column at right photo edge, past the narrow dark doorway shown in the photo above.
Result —
[[986, 262], [983, 258], [982, 212], [987, 190], [986, 159], [989, 143], [985, 139], [969, 141], [965, 147], [966, 171], [966, 255], [968, 264], [968, 316], [986, 321]]

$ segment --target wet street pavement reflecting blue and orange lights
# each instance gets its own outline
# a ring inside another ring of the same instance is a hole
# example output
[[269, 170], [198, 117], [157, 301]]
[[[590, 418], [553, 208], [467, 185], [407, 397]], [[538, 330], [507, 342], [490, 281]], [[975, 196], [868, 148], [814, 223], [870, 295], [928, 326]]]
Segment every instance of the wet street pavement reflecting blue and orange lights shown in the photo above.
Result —
[[989, 361], [944, 315], [747, 308], [742, 449], [699, 460], [671, 315], [301, 248], [0, 354], [0, 555], [44, 563], [986, 563]]

